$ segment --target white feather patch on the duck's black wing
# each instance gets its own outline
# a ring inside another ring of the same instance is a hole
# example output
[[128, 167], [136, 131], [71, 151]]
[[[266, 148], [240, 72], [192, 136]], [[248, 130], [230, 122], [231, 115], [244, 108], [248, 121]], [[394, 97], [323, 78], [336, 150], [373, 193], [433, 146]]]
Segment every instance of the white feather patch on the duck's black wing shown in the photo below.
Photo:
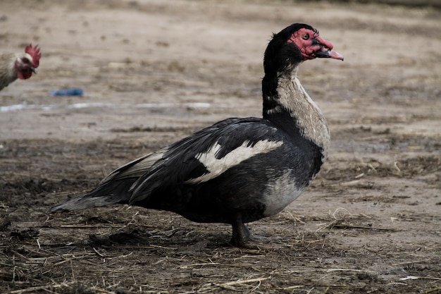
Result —
[[231, 169], [233, 166], [237, 166], [237, 164], [240, 164], [246, 159], [254, 157], [257, 154], [268, 153], [280, 147], [283, 142], [261, 140], [259, 142], [256, 142], [254, 146], [247, 146], [248, 144], [249, 140], [244, 141], [242, 145], [240, 145], [236, 149], [233, 149], [230, 153], [226, 154], [225, 157], [221, 159], [216, 159], [216, 154], [222, 147], [222, 145], [220, 145], [218, 142], [211, 146], [211, 148], [207, 152], [196, 154], [194, 158], [199, 160], [201, 164], [204, 164], [209, 173], [206, 173], [197, 178], [186, 180], [185, 183], [204, 183], [208, 180], [216, 178], [224, 171]]

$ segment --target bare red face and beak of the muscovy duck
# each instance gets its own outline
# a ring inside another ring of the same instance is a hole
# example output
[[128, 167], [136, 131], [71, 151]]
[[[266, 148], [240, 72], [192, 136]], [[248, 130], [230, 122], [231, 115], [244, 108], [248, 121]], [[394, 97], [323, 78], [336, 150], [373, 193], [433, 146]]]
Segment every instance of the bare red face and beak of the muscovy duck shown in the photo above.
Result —
[[343, 60], [343, 56], [332, 51], [333, 44], [322, 39], [317, 31], [302, 27], [294, 32], [288, 43], [293, 43], [302, 52], [303, 60], [331, 58]]

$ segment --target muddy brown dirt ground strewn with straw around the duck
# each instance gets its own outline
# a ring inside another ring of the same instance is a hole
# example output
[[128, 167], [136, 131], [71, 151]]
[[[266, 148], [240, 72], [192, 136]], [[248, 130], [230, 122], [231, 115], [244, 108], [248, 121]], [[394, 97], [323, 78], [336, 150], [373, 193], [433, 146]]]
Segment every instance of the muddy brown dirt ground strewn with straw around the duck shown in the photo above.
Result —
[[[0, 92], [1, 293], [441, 293], [441, 13], [291, 1], [1, 1], [0, 52], [42, 47]], [[272, 32], [309, 23], [344, 55], [300, 79], [330, 124], [311, 187], [231, 228], [115, 206], [49, 208], [232, 116], [261, 116]], [[80, 87], [82, 97], [50, 91]]]

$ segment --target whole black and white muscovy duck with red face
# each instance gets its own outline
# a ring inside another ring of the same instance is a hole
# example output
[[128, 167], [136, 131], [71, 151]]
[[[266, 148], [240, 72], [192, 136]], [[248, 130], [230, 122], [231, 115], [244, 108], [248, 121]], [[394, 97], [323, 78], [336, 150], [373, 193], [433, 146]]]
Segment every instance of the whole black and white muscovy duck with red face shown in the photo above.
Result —
[[232, 245], [255, 248], [244, 225], [294, 201], [325, 161], [330, 133], [297, 78], [315, 58], [343, 60], [310, 25], [295, 23], [266, 48], [263, 118], [228, 118], [111, 172], [94, 190], [51, 209], [121, 203], [175, 212], [190, 221], [230, 223]]

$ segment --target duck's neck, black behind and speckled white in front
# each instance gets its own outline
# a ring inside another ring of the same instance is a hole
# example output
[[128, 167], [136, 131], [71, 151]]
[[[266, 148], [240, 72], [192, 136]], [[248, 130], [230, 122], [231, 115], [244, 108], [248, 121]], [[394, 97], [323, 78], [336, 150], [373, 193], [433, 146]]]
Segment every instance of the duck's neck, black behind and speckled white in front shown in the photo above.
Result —
[[299, 133], [321, 149], [322, 160], [328, 155], [328, 123], [297, 78], [299, 66], [290, 66], [262, 80], [263, 118], [287, 133]]

